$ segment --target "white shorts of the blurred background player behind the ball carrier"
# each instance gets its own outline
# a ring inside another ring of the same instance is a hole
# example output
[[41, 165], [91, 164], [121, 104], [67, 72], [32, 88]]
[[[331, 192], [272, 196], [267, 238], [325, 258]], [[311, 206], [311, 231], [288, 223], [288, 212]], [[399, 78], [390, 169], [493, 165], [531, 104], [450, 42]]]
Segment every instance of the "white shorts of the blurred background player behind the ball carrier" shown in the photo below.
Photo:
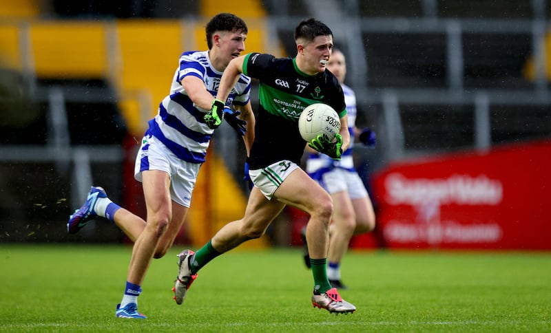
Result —
[[319, 183], [329, 194], [347, 191], [351, 199], [368, 196], [362, 178], [355, 171], [335, 168], [324, 173]]

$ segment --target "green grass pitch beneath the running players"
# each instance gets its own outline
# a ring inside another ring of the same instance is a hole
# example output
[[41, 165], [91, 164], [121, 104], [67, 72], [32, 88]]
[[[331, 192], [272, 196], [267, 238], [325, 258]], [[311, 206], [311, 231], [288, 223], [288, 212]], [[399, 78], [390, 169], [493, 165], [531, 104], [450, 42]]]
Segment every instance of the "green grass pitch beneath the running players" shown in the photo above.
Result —
[[233, 250], [183, 305], [175, 246], [153, 261], [138, 309], [117, 319], [132, 248], [0, 244], [0, 332], [551, 332], [551, 253], [351, 251], [349, 315], [313, 308], [298, 248]]

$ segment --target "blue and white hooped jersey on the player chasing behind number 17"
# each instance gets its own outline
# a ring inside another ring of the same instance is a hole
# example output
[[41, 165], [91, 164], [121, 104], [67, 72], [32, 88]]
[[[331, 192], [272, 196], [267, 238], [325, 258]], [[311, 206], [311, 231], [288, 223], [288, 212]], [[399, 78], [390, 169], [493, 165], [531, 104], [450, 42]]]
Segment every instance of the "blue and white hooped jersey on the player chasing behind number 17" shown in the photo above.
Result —
[[[209, 110], [194, 105], [181, 85], [185, 76], [196, 76], [207, 91], [216, 96], [222, 72], [209, 60], [208, 51], [184, 52], [174, 73], [170, 94], [159, 105], [158, 114], [149, 120], [146, 135], [158, 138], [178, 158], [190, 163], [205, 162], [205, 155], [214, 130], [209, 129], [203, 116]], [[226, 100], [226, 105], [246, 105], [251, 92], [251, 78], [241, 75]]]

